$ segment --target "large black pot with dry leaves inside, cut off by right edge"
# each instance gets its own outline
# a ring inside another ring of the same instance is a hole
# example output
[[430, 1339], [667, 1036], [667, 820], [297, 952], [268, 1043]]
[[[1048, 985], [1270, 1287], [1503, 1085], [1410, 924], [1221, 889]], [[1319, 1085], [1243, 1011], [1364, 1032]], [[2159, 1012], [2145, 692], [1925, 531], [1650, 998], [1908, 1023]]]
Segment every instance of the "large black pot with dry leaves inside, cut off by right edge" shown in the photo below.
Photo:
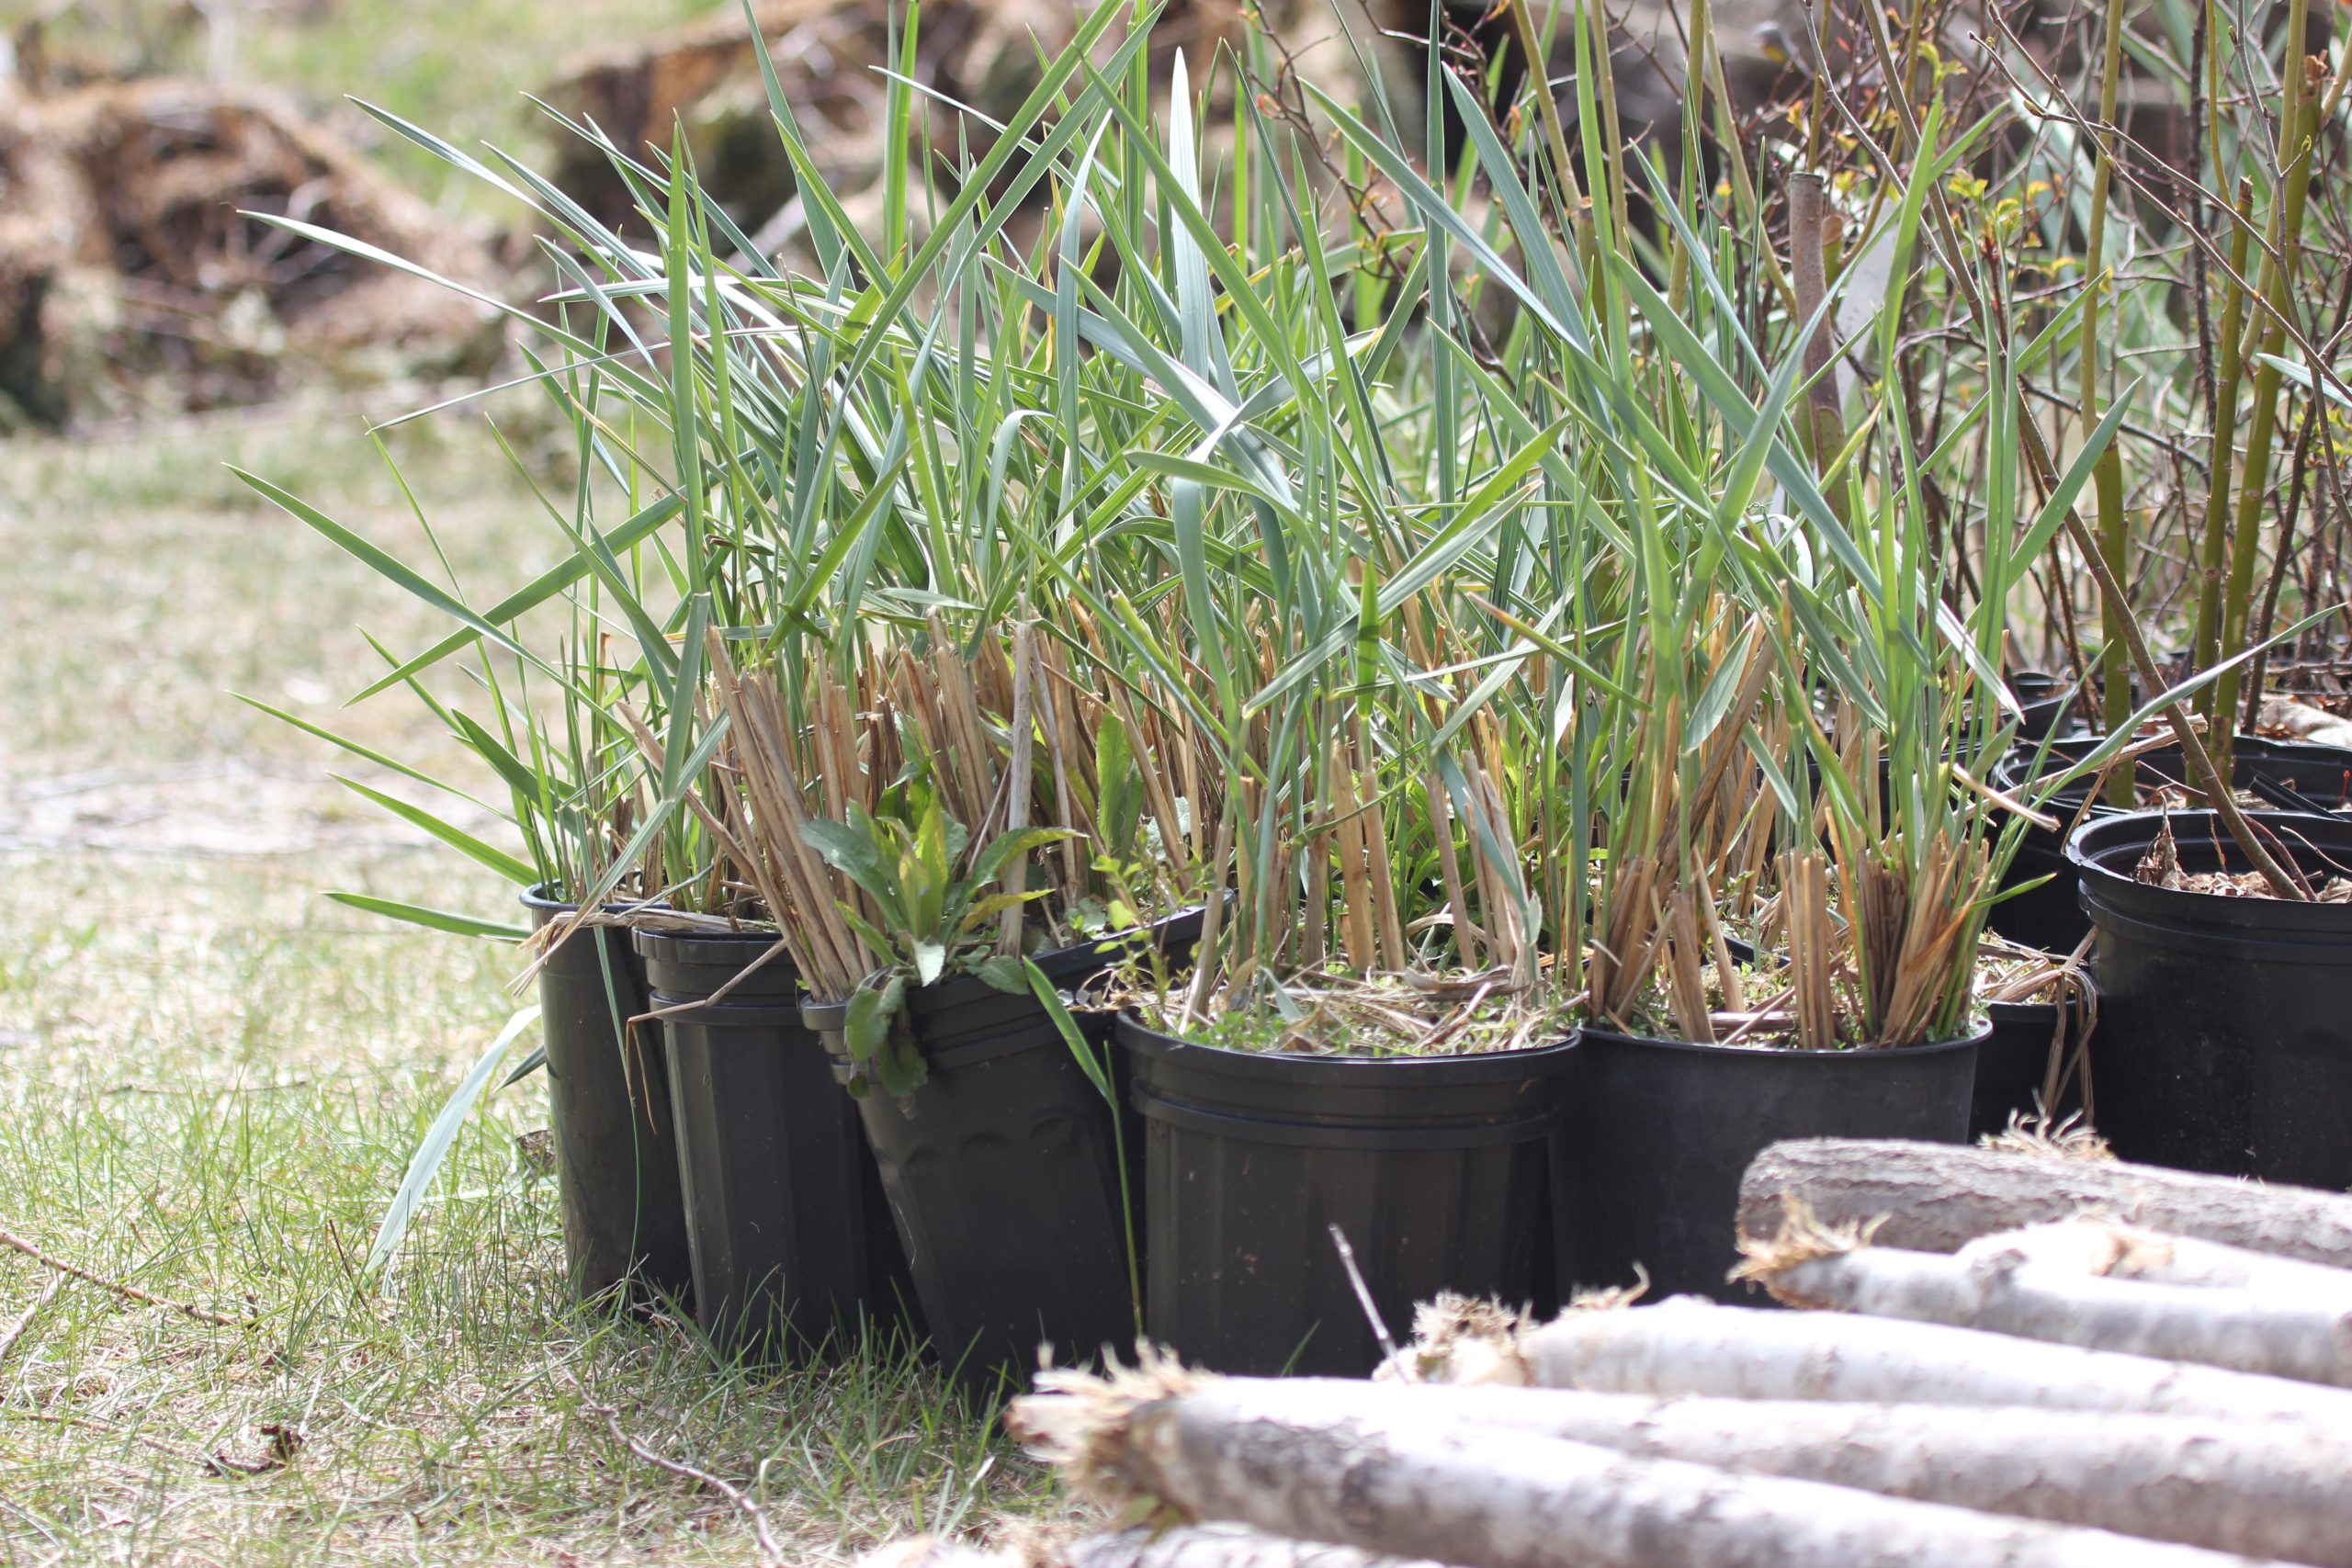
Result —
[[[2249, 818], [2314, 884], [2352, 867], [2347, 820]], [[2216, 813], [2169, 820], [2180, 870], [2246, 870]], [[2352, 1187], [2352, 903], [2143, 884], [2133, 870], [2164, 823], [2166, 813], [2136, 811], [2067, 842], [2098, 931], [2098, 1131], [2122, 1159], [2343, 1192]]]

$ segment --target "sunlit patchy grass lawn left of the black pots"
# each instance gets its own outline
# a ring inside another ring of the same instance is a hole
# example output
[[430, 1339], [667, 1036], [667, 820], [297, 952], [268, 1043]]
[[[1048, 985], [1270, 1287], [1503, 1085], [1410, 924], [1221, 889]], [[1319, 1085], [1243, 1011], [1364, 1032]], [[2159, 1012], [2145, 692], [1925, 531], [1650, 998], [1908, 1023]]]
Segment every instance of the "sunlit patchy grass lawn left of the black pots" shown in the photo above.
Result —
[[[550, 543], [485, 449], [463, 421], [400, 435], [489, 585]], [[746, 1486], [788, 1561], [1058, 1514], [903, 1356], [755, 1373], [687, 1326], [569, 1307], [553, 1182], [517, 1150], [536, 1084], [470, 1124], [393, 1276], [360, 1272], [515, 961], [320, 891], [508, 893], [228, 696], [440, 745], [409, 705], [336, 712], [374, 658], [360, 628], [416, 646], [421, 611], [223, 458], [416, 543], [341, 407], [0, 447], [0, 1229], [252, 1319], [0, 1251], [0, 1563], [753, 1559], [736, 1507], [621, 1434]]]

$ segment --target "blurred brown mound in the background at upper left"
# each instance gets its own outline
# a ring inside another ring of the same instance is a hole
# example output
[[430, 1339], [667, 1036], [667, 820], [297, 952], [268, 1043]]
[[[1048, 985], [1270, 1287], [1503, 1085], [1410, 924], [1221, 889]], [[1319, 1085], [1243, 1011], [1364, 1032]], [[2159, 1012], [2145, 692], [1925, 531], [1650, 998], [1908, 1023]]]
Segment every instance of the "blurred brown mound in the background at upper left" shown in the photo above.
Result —
[[0, 428], [247, 404], [322, 369], [496, 360], [492, 310], [249, 212], [470, 287], [496, 277], [487, 249], [268, 94], [0, 87]]

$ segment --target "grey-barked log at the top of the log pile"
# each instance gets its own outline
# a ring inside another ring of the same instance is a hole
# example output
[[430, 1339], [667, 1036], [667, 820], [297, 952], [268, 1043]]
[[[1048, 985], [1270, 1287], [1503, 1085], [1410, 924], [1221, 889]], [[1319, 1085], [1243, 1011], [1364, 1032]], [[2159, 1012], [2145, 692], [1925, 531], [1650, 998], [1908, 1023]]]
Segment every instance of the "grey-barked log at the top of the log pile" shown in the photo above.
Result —
[[1872, 1239], [1922, 1253], [1957, 1253], [1978, 1237], [2091, 1208], [2173, 1237], [2352, 1269], [2352, 1197], [2114, 1159], [1842, 1138], [1776, 1143], [1740, 1182], [1740, 1234], [1778, 1237], [1783, 1197], [1802, 1199], [1823, 1225], [1884, 1215]]

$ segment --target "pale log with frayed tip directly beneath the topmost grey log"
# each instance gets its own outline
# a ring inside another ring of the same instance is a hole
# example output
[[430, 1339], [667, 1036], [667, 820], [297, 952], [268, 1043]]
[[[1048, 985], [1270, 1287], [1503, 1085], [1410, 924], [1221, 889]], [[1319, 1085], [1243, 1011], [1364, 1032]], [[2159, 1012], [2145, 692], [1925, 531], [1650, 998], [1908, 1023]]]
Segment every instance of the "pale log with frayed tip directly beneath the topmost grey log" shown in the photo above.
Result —
[[1750, 1276], [1790, 1307], [1990, 1328], [2049, 1345], [2352, 1387], [2352, 1316], [2253, 1291], [2084, 1276], [2013, 1251], [1971, 1260], [1891, 1246], [1759, 1260]]

